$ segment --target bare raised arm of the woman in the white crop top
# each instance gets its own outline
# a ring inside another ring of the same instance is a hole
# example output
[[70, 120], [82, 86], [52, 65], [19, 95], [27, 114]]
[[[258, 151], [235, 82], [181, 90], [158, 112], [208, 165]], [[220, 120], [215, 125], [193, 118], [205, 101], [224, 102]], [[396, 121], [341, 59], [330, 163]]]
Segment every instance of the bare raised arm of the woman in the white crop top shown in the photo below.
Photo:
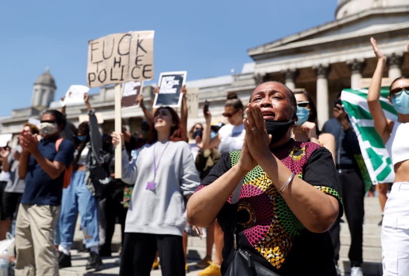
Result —
[[390, 121], [385, 117], [385, 113], [380, 105], [379, 98], [383, 70], [385, 69], [387, 58], [379, 50], [375, 38], [371, 37], [371, 43], [378, 62], [376, 64], [374, 75], [372, 76], [371, 84], [369, 85], [367, 101], [369, 111], [374, 119], [375, 129], [381, 137], [383, 143], [386, 143], [391, 134], [391, 130], [389, 128]]

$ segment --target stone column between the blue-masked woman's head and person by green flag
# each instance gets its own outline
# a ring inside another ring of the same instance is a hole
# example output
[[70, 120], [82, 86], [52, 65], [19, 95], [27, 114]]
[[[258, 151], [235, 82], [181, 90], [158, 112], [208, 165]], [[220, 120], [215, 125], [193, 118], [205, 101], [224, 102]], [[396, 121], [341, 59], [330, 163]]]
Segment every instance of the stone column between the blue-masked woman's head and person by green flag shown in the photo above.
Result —
[[320, 64], [312, 68], [316, 74], [316, 112], [319, 128], [321, 129], [324, 123], [329, 119], [328, 74], [330, 67], [329, 65]]

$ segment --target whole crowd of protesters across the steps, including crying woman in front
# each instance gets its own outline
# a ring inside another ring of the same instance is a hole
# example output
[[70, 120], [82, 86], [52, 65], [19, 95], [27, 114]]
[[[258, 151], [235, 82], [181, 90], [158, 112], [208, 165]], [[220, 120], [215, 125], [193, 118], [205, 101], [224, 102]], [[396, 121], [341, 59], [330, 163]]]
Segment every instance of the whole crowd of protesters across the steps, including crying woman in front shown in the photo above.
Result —
[[[371, 43], [378, 62], [368, 106], [395, 170], [388, 200], [388, 184], [378, 189], [383, 273], [407, 275], [409, 77], [390, 86], [398, 113], [391, 121], [380, 104], [386, 58], [376, 40]], [[16, 147], [0, 150], [0, 240], [15, 220], [15, 275], [58, 275], [70, 267], [78, 214], [89, 251], [86, 269], [100, 269], [101, 257], [111, 256], [118, 221], [120, 275], [149, 275], [158, 266], [163, 275], [185, 275], [188, 234], [205, 231], [206, 257], [196, 264], [203, 268], [200, 276], [340, 275], [344, 213], [351, 275], [363, 275], [366, 190], [341, 94], [334, 118], [320, 130], [308, 91], [268, 81], [247, 105], [227, 95], [227, 124], [212, 122], [203, 107], [206, 123], [188, 132], [186, 93], [183, 87], [180, 117], [171, 107], [151, 111], [138, 95], [143, 135], [126, 127], [102, 135], [85, 94], [88, 121], [76, 127], [66, 121], [65, 107], [46, 110], [38, 127], [24, 125]], [[116, 147], [122, 148], [121, 179], [114, 174]]]

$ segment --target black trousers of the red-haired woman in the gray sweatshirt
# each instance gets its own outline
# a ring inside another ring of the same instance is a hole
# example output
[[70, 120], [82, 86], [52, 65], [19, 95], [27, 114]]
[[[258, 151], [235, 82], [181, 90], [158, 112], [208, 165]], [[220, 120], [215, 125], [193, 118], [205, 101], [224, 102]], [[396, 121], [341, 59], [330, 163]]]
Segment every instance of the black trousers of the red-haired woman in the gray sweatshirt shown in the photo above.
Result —
[[156, 250], [163, 276], [186, 275], [182, 237], [144, 233], [125, 233], [119, 274], [149, 276]]

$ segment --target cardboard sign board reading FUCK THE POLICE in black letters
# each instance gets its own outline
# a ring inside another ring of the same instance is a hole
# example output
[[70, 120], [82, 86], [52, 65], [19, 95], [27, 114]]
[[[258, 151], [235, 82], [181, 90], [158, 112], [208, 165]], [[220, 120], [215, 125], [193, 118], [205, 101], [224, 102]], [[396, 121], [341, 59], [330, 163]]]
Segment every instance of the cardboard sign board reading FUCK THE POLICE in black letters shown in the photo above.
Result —
[[139, 31], [88, 41], [88, 86], [153, 79], [153, 36]]

